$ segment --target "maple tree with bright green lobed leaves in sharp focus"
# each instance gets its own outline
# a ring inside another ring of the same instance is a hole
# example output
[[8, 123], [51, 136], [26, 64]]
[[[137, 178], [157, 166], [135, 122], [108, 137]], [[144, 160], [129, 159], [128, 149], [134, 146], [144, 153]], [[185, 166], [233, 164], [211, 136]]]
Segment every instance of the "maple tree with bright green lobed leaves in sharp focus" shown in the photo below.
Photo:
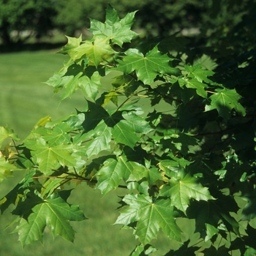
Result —
[[[69, 221], [86, 217], [67, 203], [67, 182], [84, 181], [104, 195], [122, 187], [127, 195], [116, 224], [140, 241], [132, 256], [154, 252], [159, 230], [176, 241], [166, 255], [252, 255], [255, 50], [242, 37], [227, 62], [211, 52], [214, 40], [196, 55], [195, 45], [175, 34], [140, 39], [124, 51], [137, 37], [134, 17], [120, 19], [108, 6], [105, 23], [90, 20], [91, 39], [67, 37], [59, 51], [70, 59], [47, 83], [61, 91], [61, 101], [83, 91], [84, 110], [42, 118], [19, 145], [12, 129], [1, 127], [1, 181], [14, 170], [26, 173], [1, 199], [1, 212], [15, 205], [23, 246], [42, 241], [46, 225], [54, 237], [73, 241]], [[113, 88], [99, 94], [109, 72], [116, 73]], [[190, 223], [189, 233], [182, 222]]]

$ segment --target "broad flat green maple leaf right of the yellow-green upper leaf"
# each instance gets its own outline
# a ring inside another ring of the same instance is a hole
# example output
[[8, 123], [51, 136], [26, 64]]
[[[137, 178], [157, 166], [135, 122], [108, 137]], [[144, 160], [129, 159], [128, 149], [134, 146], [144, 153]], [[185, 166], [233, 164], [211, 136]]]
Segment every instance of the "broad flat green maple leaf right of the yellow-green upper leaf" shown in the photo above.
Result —
[[119, 65], [113, 70], [124, 72], [124, 74], [135, 70], [138, 80], [143, 81], [144, 84], [150, 85], [159, 74], [177, 75], [179, 73], [178, 69], [169, 65], [169, 61], [173, 59], [169, 58], [167, 54], [160, 53], [157, 46], [148, 51], [146, 56], [137, 49], [129, 49], [125, 54], [123, 60], [117, 60]]

